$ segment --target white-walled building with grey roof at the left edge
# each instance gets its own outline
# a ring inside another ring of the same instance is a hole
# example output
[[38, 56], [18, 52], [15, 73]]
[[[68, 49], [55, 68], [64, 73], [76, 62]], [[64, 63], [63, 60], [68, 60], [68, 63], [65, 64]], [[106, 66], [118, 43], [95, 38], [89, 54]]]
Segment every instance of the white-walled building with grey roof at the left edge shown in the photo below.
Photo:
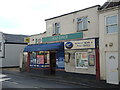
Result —
[[18, 67], [20, 53], [27, 43], [25, 35], [14, 35], [0, 32], [0, 67]]

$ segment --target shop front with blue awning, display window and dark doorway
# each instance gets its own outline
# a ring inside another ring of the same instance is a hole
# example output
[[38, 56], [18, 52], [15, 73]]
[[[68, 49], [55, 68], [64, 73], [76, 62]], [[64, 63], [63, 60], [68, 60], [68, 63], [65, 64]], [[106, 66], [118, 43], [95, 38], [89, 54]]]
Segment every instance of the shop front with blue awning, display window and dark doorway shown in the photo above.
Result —
[[55, 74], [56, 70], [64, 71], [64, 43], [28, 45], [27, 71]]

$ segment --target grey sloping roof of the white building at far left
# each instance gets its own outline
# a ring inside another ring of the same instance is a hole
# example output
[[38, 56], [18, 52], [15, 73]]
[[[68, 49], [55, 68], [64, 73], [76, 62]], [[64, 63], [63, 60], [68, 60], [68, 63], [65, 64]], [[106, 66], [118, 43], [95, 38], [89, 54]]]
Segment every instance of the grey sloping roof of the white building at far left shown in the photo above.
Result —
[[3, 33], [5, 43], [25, 43], [24, 38], [28, 37], [27, 35], [15, 35], [15, 34], [6, 34]]

